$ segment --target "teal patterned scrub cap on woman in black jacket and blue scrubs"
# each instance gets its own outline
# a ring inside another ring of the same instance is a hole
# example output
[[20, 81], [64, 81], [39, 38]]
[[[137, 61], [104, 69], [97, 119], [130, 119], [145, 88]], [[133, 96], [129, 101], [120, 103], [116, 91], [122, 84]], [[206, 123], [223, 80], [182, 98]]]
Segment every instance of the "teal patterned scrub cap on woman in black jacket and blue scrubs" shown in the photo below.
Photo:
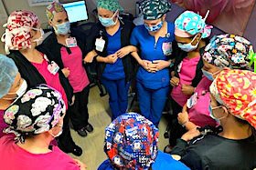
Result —
[[103, 8], [112, 12], [123, 11], [123, 7], [118, 0], [97, 0], [97, 8]]

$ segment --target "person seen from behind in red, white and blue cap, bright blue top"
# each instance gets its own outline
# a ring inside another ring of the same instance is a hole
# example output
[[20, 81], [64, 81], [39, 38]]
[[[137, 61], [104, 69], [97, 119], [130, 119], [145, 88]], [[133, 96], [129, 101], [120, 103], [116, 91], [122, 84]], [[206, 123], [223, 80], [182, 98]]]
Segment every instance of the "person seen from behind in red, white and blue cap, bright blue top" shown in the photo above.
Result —
[[158, 136], [158, 128], [144, 116], [118, 116], [105, 128], [104, 152], [108, 159], [98, 170], [188, 170], [186, 165], [158, 150]]

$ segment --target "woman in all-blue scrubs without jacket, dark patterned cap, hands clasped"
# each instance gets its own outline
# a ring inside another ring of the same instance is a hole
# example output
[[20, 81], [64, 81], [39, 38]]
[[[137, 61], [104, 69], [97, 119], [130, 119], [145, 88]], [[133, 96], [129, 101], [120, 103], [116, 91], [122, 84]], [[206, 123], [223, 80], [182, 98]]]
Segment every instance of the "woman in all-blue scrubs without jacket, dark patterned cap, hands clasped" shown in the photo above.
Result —
[[144, 25], [133, 29], [131, 44], [140, 51], [133, 57], [140, 67], [137, 72], [137, 92], [142, 115], [159, 124], [169, 93], [169, 66], [172, 64], [172, 42], [175, 25], [165, 21], [170, 3], [165, 0], [145, 0], [140, 6]]

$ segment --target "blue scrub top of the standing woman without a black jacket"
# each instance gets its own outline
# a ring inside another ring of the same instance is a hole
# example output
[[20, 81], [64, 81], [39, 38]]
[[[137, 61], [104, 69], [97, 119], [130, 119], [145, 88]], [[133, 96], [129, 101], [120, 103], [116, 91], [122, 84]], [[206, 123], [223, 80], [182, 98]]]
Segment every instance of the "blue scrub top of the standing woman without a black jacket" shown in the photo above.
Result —
[[[131, 44], [141, 50], [141, 58], [144, 60], [168, 60], [164, 55], [163, 44], [172, 43], [175, 40], [175, 25], [167, 22], [167, 32], [165, 37], [159, 37], [155, 44], [155, 37], [150, 35], [144, 25], [138, 25], [133, 29]], [[137, 81], [146, 88], [159, 89], [168, 86], [170, 83], [168, 67], [156, 73], [149, 73], [142, 66], [137, 72]]]

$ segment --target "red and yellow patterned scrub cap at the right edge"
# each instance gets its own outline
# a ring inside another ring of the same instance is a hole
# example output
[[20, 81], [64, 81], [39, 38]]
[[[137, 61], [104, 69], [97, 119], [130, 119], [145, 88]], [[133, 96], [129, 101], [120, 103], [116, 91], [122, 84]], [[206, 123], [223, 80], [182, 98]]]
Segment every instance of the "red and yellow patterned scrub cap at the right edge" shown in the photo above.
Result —
[[210, 93], [232, 115], [256, 128], [256, 73], [224, 69], [210, 85]]

